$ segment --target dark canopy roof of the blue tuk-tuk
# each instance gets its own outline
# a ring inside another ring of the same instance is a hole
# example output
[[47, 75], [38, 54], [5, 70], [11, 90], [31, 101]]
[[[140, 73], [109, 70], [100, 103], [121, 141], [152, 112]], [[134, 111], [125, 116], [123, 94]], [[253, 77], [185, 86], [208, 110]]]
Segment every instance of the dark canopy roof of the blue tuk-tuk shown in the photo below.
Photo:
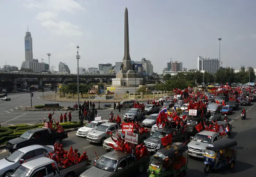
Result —
[[229, 148], [229, 147], [236, 146], [236, 145], [237, 145], [236, 140], [229, 139], [229, 138], [222, 138], [220, 140], [217, 140], [217, 141], [209, 144], [209, 146], [207, 148], [211, 149], [213, 151], [220, 151], [222, 149]]

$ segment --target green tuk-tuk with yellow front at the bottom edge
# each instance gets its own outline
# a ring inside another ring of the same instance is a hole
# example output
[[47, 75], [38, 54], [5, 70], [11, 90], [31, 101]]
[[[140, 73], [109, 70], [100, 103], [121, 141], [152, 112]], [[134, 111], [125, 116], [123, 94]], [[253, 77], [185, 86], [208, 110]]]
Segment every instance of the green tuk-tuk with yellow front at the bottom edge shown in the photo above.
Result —
[[188, 146], [170, 143], [150, 157], [149, 177], [185, 176], [188, 170]]

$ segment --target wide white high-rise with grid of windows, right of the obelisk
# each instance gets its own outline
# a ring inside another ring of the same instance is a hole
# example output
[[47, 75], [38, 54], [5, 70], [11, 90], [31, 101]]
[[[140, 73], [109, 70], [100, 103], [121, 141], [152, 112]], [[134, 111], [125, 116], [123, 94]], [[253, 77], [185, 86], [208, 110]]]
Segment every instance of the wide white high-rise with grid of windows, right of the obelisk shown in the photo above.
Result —
[[197, 70], [215, 74], [219, 70], [219, 59], [197, 57]]

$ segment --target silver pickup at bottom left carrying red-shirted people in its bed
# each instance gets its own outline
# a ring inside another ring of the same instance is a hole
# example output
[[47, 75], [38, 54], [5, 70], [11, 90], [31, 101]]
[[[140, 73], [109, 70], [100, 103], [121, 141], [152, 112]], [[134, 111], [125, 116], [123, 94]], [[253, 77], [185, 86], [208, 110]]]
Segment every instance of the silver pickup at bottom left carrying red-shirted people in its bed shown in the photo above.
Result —
[[87, 165], [89, 165], [89, 162], [83, 161], [67, 168], [61, 168], [58, 167], [58, 164], [54, 160], [41, 157], [22, 163], [22, 165], [12, 173], [11, 177], [76, 177], [84, 172], [84, 168]]

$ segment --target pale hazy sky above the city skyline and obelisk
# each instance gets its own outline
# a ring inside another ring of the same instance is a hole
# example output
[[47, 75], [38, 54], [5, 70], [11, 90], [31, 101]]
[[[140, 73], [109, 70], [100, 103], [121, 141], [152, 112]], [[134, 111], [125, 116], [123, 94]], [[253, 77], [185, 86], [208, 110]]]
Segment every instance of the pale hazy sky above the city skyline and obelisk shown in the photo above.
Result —
[[[58, 70], [66, 63], [79, 67], [122, 61], [124, 11], [128, 8], [130, 56], [150, 60], [162, 73], [167, 62], [195, 69], [197, 57], [219, 58], [238, 70], [256, 68], [255, 0], [0, 0], [0, 66], [25, 60], [27, 26], [33, 57], [48, 60]], [[48, 61], [47, 61], [48, 62]]]

